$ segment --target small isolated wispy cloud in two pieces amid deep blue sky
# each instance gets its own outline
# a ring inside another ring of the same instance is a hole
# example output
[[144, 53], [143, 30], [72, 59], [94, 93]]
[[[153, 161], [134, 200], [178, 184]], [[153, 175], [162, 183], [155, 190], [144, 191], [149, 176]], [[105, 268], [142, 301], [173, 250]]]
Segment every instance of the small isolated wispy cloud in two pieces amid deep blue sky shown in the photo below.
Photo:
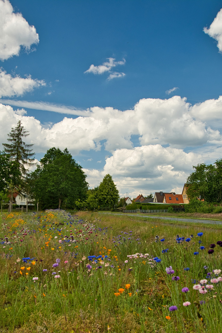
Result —
[[107, 58], [108, 61], [104, 62], [102, 65], [94, 66], [91, 65], [90, 68], [84, 73], [92, 73], [92, 74], [104, 74], [105, 72], [111, 73], [108, 77], [108, 80], [112, 80], [114, 78], [120, 78], [125, 76], [124, 73], [112, 72], [111, 69], [118, 65], [125, 65], [125, 59], [123, 58], [121, 61], [115, 61], [114, 58]]

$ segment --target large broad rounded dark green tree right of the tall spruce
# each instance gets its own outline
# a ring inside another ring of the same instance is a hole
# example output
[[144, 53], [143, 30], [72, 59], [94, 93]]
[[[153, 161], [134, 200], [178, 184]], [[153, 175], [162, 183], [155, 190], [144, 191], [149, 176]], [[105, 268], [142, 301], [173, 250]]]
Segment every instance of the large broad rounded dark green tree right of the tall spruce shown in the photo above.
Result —
[[76, 200], [85, 199], [86, 174], [65, 149], [51, 148], [31, 174], [31, 186], [40, 208], [74, 208]]

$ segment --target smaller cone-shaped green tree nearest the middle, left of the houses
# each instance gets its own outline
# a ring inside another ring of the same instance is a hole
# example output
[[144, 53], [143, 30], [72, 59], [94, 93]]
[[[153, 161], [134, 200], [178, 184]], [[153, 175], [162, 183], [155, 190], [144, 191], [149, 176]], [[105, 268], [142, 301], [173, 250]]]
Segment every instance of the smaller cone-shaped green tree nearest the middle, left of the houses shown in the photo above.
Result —
[[113, 208], [119, 200], [119, 191], [108, 173], [98, 188], [98, 202], [101, 208]]

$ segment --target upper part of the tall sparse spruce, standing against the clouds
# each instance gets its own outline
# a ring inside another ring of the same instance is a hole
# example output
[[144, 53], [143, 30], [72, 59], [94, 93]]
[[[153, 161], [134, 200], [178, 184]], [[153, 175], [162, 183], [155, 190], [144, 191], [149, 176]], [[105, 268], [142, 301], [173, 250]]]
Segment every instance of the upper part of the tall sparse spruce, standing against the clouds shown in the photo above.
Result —
[[[8, 144], [2, 144], [5, 153], [9, 155], [11, 161], [15, 161], [19, 167], [22, 177], [28, 173], [28, 168], [34, 165], [35, 153], [32, 153], [30, 149], [33, 144], [27, 145], [23, 138], [29, 136], [29, 132], [22, 126], [21, 120], [19, 120], [16, 128], [12, 128], [8, 134]], [[27, 167], [27, 168], [26, 168]]]

